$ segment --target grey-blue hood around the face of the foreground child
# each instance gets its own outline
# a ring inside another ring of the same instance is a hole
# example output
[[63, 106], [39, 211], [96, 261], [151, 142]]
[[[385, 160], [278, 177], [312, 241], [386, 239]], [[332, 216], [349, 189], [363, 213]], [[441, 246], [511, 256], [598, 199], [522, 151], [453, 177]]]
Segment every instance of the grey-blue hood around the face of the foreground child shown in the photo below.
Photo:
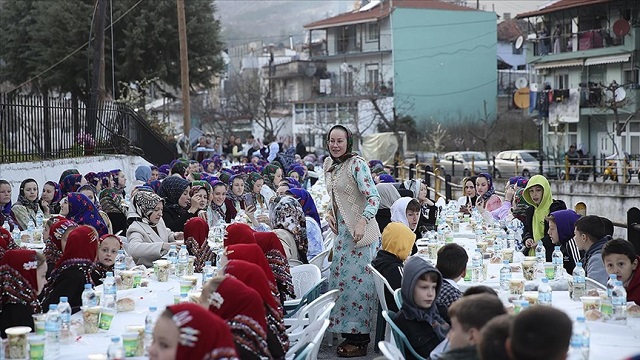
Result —
[[407, 320], [425, 321], [433, 327], [440, 340], [444, 340], [449, 331], [449, 325], [442, 319], [438, 313], [435, 301], [428, 309], [420, 308], [413, 300], [413, 292], [420, 276], [425, 273], [433, 272], [438, 276], [438, 285], [436, 286], [435, 299], [440, 295], [442, 290], [442, 275], [431, 263], [419, 257], [411, 256], [404, 264], [404, 274], [402, 275], [402, 285], [400, 293], [402, 294], [402, 307], [400, 311]]

